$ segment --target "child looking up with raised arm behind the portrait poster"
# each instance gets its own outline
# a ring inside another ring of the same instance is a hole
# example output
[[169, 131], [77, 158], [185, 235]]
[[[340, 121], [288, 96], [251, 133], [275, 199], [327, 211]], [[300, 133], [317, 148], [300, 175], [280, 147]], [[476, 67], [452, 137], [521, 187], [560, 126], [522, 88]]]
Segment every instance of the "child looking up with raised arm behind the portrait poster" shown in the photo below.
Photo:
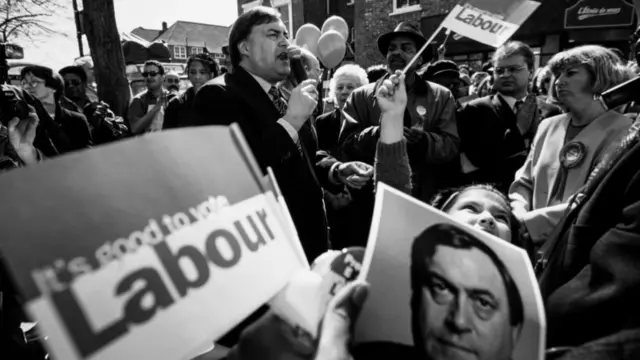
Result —
[[[407, 141], [403, 137], [403, 114], [407, 101], [403, 80], [403, 77], [398, 78], [399, 85], [393, 97], [385, 96], [386, 90], [382, 90], [377, 96], [382, 118], [376, 149], [375, 177], [376, 182], [382, 181], [410, 194], [411, 168]], [[431, 205], [460, 222], [525, 249], [533, 260], [533, 246], [524, 242], [520, 236], [520, 223], [511, 211], [509, 200], [494, 187], [469, 185], [445, 190], [434, 197]]]

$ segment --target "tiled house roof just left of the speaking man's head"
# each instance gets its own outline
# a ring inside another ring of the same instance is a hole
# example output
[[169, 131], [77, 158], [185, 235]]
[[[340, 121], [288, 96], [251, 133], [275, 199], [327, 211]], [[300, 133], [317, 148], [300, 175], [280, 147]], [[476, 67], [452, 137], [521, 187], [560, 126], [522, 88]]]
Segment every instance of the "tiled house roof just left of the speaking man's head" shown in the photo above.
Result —
[[176, 21], [167, 31], [153, 39], [164, 41], [167, 45], [185, 45], [204, 47], [212, 53], [222, 53], [227, 43], [229, 27], [209, 25], [189, 21]]

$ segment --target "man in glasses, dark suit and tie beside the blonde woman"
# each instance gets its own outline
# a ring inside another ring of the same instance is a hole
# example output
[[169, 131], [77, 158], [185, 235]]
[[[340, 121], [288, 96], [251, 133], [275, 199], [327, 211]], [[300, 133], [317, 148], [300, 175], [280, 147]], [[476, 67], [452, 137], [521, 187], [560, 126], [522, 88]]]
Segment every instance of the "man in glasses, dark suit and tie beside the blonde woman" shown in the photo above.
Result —
[[559, 107], [528, 94], [533, 51], [508, 42], [493, 60], [497, 94], [467, 103], [457, 114], [464, 183], [491, 183], [504, 193], [527, 158], [540, 121]]

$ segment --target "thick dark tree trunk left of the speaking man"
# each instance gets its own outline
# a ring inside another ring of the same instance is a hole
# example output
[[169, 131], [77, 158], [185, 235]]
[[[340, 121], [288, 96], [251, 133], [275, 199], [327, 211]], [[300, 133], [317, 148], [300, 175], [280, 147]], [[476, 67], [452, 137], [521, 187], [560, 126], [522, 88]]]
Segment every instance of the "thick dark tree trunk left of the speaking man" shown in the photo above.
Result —
[[116, 115], [126, 118], [131, 89], [113, 0], [83, 0], [82, 5], [84, 33], [93, 59], [98, 97], [109, 104]]

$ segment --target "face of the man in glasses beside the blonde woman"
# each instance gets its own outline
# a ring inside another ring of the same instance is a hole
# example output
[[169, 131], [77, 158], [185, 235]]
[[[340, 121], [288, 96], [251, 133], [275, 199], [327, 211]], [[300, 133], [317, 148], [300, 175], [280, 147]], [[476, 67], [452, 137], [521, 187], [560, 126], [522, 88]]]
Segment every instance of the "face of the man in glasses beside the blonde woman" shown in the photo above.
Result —
[[526, 91], [531, 79], [531, 69], [522, 55], [501, 58], [495, 64], [494, 89], [507, 96], [516, 96]]

